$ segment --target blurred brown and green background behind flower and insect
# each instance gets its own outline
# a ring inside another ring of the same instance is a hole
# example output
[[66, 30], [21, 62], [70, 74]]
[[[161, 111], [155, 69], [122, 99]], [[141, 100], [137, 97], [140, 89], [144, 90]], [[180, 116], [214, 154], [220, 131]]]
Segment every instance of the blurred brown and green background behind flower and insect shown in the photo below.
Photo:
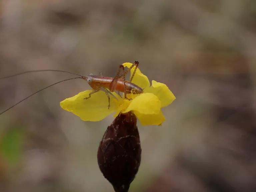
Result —
[[[138, 124], [130, 191], [256, 191], [255, 24], [255, 0], [1, 0], [0, 77], [113, 77], [138, 60], [177, 99], [162, 126]], [[70, 77], [3, 79], [0, 111]], [[114, 118], [83, 122], [59, 106], [86, 89], [64, 82], [0, 116], [1, 192], [113, 191], [96, 154]]]

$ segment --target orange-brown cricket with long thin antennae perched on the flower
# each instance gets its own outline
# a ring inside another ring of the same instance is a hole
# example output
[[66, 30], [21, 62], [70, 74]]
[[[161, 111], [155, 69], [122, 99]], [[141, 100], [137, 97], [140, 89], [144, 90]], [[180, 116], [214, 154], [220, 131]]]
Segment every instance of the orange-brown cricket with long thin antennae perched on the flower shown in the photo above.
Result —
[[[69, 74], [73, 74], [76, 75], [78, 77], [73, 77], [73, 78], [69, 78], [69, 79], [65, 79], [62, 81], [58, 81], [54, 84], [51, 84], [47, 87], [44, 87], [36, 92], [34, 92], [33, 94], [25, 97], [24, 99], [20, 100], [19, 102], [15, 103], [14, 105], [12, 105], [11, 107], [7, 108], [6, 110], [0, 112], [0, 115], [2, 115], [3, 113], [9, 111], [10, 109], [12, 109], [13, 107], [15, 107], [16, 105], [18, 105], [19, 103], [25, 101], [26, 99], [30, 98], [31, 96], [39, 93], [40, 91], [43, 91], [53, 85], [56, 85], [58, 83], [64, 82], [64, 81], [69, 81], [72, 79], [84, 79], [85, 81], [87, 81], [87, 83], [90, 85], [90, 87], [92, 88], [92, 92], [89, 93], [89, 96], [84, 98], [84, 99], [89, 99], [91, 97], [92, 94], [103, 90], [106, 94], [106, 96], [108, 97], [108, 109], [110, 107], [110, 95], [114, 96], [112, 94], [112, 92], [117, 91], [119, 96], [120, 92], [124, 93], [124, 98], [125, 99], [129, 99], [127, 98], [127, 94], [141, 94], [143, 93], [143, 89], [141, 87], [139, 87], [138, 85], [132, 83], [132, 79], [135, 75], [136, 69], [138, 68], [139, 62], [135, 61], [132, 66], [130, 68], [128, 68], [127, 70], [124, 69], [123, 65], [120, 65], [118, 68], [118, 72], [116, 74], [115, 77], [106, 77], [103, 76], [102, 72], [100, 72], [99, 75], [93, 75], [93, 74], [89, 74], [88, 76], [83, 76], [77, 73], [72, 73], [72, 72], [68, 72], [68, 71], [62, 71], [62, 70], [53, 70], [53, 69], [45, 69], [45, 70], [32, 70], [32, 71], [25, 71], [22, 73], [17, 73], [14, 75], [9, 75], [9, 76], [5, 76], [5, 77], [0, 77], [1, 79], [6, 79], [6, 78], [11, 78], [14, 76], [18, 76], [18, 75], [22, 75], [22, 74], [26, 74], [26, 73], [32, 73], [32, 72], [42, 72], [42, 71], [56, 71], [56, 72], [63, 72], [63, 73], [69, 73]], [[125, 80], [125, 76], [127, 75], [128, 72], [131, 71], [131, 69], [134, 67], [134, 72], [131, 75], [130, 80]], [[114, 96], [115, 97], [115, 96]], [[129, 99], [130, 100], [130, 99]]]

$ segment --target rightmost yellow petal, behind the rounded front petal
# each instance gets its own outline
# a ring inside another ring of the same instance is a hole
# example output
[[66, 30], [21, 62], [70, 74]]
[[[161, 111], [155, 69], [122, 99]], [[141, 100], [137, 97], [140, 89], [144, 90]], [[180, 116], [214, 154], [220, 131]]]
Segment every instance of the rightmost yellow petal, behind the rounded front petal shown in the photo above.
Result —
[[161, 101], [161, 107], [170, 105], [176, 98], [170, 89], [164, 84], [156, 81], [152, 81], [152, 86], [144, 89], [146, 93], [153, 93]]

